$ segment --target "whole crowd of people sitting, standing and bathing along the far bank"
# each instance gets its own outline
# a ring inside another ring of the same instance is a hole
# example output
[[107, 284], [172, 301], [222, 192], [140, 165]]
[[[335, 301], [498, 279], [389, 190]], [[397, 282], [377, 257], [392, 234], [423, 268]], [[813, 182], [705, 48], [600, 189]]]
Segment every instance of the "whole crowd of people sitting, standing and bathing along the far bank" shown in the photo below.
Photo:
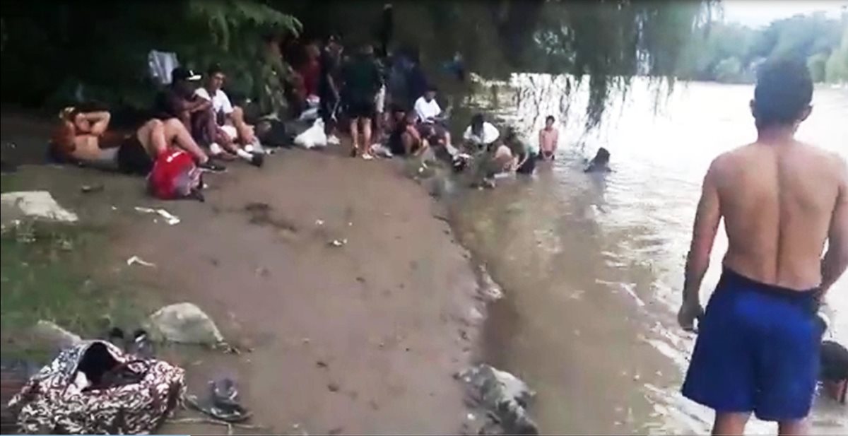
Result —
[[[303, 89], [297, 94], [317, 106], [328, 143], [340, 143], [338, 130], [349, 132], [353, 156], [373, 159], [374, 144], [385, 144], [390, 154], [400, 156], [432, 149], [457, 170], [464, 169], [471, 159], [484, 161], [488, 176], [504, 171], [530, 174], [537, 159], [555, 157], [559, 132], [553, 116], [539, 131], [537, 145], [522, 140], [510, 127], [501, 135], [477, 114], [462, 135], [460, 147], [455, 147], [447, 126], [450, 108], [442, 110], [437, 89], [428, 85], [415, 54], [399, 51], [391, 58], [386, 53], [378, 57], [371, 44], [362, 44], [345, 56], [336, 36], [328, 38], [324, 48], [309, 44], [305, 53], [307, 60], [297, 73]], [[108, 111], [84, 105], [66, 108], [53, 134], [51, 156], [59, 162], [146, 176], [157, 159], [177, 151], [181, 156], [177, 160], [198, 168], [192, 172], [186, 164], [184, 170], [176, 171], [188, 180], [181, 183], [184, 192], [201, 186], [198, 177], [186, 176], [189, 173], [225, 170], [224, 162], [237, 159], [262, 166], [265, 148], [254, 126], [245, 120], [243, 108], [234, 105], [223, 90], [225, 81], [225, 72], [218, 65], [209, 67], [205, 76], [175, 68], [170, 83], [157, 94], [149, 119], [130, 131], [112, 128]], [[604, 158], [600, 154], [595, 160]], [[606, 161], [608, 158], [606, 153]], [[606, 161], [599, 160], [600, 165], [590, 168], [602, 170]]]

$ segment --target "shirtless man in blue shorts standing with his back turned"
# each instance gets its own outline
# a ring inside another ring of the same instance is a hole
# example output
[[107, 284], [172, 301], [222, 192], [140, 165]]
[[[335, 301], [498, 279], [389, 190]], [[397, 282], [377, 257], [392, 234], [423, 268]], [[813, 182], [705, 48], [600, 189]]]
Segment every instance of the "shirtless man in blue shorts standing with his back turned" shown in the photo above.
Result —
[[[752, 411], [780, 434], [806, 433], [817, 306], [848, 266], [845, 160], [794, 138], [811, 99], [806, 65], [764, 64], [750, 103], [756, 143], [719, 156], [704, 178], [678, 321], [701, 320], [683, 395], [716, 411], [713, 434], [743, 434]], [[704, 313], [698, 291], [722, 217], [728, 252]]]

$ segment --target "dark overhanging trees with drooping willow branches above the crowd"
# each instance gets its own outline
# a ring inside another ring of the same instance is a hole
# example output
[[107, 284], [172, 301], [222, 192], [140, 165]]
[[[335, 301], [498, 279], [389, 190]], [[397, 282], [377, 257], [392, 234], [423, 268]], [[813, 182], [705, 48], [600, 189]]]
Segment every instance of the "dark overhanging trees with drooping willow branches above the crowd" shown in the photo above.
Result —
[[[304, 38], [341, 33], [373, 40], [379, 0], [93, 0], [4, 2], [3, 101], [55, 108], [86, 98], [145, 106], [153, 93], [147, 53], [173, 51], [204, 68], [213, 59], [228, 86], [255, 97], [269, 32]], [[513, 71], [591, 77], [590, 124], [605, 100], [633, 75], [671, 78], [693, 29], [714, 0], [497, 0], [394, 2], [393, 43], [419, 48], [438, 80], [441, 65], [463, 53], [469, 70], [502, 78]]]

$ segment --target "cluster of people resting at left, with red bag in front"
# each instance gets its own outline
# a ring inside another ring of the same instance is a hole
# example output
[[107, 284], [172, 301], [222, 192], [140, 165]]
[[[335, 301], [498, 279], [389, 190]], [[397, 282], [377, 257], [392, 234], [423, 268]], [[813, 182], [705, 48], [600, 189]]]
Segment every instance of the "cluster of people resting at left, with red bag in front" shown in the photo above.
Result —
[[[130, 131], [113, 129], [109, 111], [80, 106], [63, 109], [50, 142], [53, 160], [127, 174], [148, 176], [161, 159], [160, 172], [168, 191], [165, 198], [198, 193], [200, 174], [223, 171], [222, 161], [243, 159], [261, 166], [265, 150], [243, 110], [233, 106], [221, 89], [225, 75], [209, 68], [201, 75], [177, 67], [170, 84], [156, 96], [152, 116]], [[176, 170], [174, 165], [179, 165]], [[169, 176], [170, 175], [170, 176]]]

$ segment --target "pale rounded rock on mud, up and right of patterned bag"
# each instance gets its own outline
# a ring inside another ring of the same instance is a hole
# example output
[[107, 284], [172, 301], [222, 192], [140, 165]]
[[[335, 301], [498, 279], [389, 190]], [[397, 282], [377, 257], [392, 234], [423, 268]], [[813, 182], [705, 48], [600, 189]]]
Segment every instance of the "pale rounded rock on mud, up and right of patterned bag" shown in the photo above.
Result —
[[147, 325], [150, 338], [157, 342], [177, 344], [224, 343], [215, 322], [197, 305], [177, 303], [167, 305], [148, 317]]

